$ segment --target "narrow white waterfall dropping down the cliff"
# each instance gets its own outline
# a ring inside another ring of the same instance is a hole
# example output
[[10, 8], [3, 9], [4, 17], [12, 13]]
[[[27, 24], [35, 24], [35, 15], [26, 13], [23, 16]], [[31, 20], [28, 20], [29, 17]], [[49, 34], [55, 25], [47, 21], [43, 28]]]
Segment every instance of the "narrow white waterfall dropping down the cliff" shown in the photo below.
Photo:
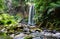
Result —
[[35, 10], [34, 10], [34, 5], [32, 4], [29, 7], [28, 25], [34, 25], [34, 20], [33, 20], [34, 14], [35, 14]]

